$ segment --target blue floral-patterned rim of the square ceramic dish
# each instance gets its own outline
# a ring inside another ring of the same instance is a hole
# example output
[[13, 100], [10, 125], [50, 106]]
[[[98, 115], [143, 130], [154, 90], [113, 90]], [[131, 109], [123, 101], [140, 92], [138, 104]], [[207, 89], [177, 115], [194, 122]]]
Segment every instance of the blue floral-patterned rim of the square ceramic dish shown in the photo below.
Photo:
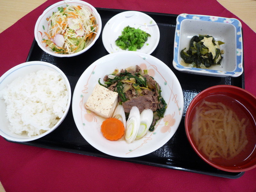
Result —
[[[216, 17], [209, 15], [196, 15], [182, 13], [177, 17], [177, 25], [174, 36], [174, 54], [173, 54], [173, 66], [179, 71], [187, 73], [195, 73], [201, 75], [210, 76], [233, 76], [237, 77], [243, 73], [243, 44], [242, 44], [242, 24], [239, 20], [234, 18]], [[180, 44], [180, 27], [184, 20], [202, 20], [209, 22], [227, 23], [233, 25], [236, 28], [236, 69], [234, 71], [221, 71], [212, 69], [191, 68], [180, 65], [179, 63], [179, 44]]]

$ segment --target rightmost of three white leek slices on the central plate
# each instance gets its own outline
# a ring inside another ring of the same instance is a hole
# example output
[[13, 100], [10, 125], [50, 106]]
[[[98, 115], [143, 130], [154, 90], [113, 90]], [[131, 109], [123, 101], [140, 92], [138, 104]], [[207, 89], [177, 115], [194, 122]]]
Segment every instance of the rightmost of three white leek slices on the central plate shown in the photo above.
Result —
[[136, 139], [141, 139], [147, 134], [148, 129], [152, 124], [152, 121], [153, 111], [151, 109], [144, 109], [140, 114], [140, 128], [137, 133]]

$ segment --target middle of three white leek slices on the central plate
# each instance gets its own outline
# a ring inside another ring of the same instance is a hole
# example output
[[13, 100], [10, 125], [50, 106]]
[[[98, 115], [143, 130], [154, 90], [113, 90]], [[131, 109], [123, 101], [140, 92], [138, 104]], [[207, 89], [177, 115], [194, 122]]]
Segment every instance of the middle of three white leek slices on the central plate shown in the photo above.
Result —
[[140, 111], [137, 107], [133, 106], [130, 110], [128, 120], [126, 122], [125, 140], [131, 143], [135, 140], [140, 127]]

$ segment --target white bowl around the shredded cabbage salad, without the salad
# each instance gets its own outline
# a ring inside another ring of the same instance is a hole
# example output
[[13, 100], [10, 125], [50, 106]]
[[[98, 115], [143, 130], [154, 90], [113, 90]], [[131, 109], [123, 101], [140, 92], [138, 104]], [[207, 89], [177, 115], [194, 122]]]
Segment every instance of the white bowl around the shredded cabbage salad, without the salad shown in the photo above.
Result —
[[[67, 7], [67, 5], [76, 5], [76, 6], [79, 5], [81, 7], [84, 6], [85, 9], [87, 9], [89, 12], [91, 12], [94, 15], [97, 25], [98, 25], [98, 29], [97, 29], [97, 34], [95, 35], [93, 40], [91, 40], [90, 44], [88, 46], [86, 46], [84, 49], [82, 49], [81, 51], [78, 51], [78, 52], [75, 52], [72, 54], [60, 54], [60, 53], [53, 52], [51, 49], [48, 49], [46, 44], [43, 42], [43, 39], [48, 39], [48, 37], [45, 33], [47, 33], [47, 31], [49, 29], [48, 20], [49, 20], [50, 16], [52, 15], [52, 12], [57, 12], [58, 7]], [[100, 14], [97, 12], [97, 10], [91, 4], [86, 3], [84, 1], [80, 1], [80, 0], [65, 0], [65, 1], [57, 2], [57, 3], [47, 7], [44, 10], [42, 15], [40, 15], [36, 21], [34, 34], [35, 34], [35, 39], [36, 39], [38, 46], [44, 52], [46, 52], [50, 55], [56, 56], [56, 57], [74, 57], [76, 55], [80, 55], [80, 54], [86, 52], [88, 49], [90, 49], [92, 47], [92, 45], [97, 41], [97, 39], [100, 36], [101, 28], [102, 28], [102, 22], [101, 22]]]

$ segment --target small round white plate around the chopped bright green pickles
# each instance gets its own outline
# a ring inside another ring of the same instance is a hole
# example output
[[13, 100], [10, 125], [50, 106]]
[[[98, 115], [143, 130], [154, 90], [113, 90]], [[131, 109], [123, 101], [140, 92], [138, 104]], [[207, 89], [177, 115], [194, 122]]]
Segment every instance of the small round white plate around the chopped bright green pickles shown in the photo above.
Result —
[[121, 12], [108, 20], [102, 31], [102, 42], [107, 52], [128, 51], [122, 50], [115, 43], [118, 36], [122, 35], [123, 29], [128, 25], [136, 29], [140, 28], [151, 35], [151, 37], [148, 37], [148, 41], [146, 41], [143, 47], [137, 49], [137, 52], [151, 54], [159, 43], [159, 28], [150, 16], [138, 11]]

